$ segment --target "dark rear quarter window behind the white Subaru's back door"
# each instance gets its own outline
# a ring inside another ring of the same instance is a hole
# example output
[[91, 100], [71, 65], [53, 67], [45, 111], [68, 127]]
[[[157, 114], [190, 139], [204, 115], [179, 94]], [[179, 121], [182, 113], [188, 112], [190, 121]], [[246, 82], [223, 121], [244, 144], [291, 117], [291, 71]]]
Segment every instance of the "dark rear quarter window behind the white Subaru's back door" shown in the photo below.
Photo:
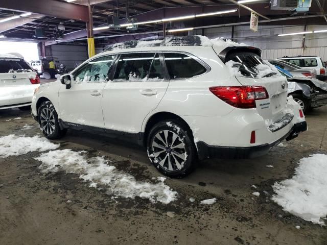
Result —
[[203, 74], [206, 68], [195, 59], [177, 53], [164, 54], [170, 79], [187, 79]]

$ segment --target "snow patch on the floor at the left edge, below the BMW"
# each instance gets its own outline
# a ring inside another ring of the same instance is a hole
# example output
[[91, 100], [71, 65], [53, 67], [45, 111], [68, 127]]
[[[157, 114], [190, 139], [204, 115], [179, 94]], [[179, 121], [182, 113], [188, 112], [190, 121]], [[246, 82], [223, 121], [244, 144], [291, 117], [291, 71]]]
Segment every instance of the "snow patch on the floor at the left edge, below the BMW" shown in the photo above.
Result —
[[55, 150], [59, 144], [51, 143], [38, 135], [33, 137], [16, 136], [14, 134], [0, 137], [0, 157], [24, 155], [35, 151]]

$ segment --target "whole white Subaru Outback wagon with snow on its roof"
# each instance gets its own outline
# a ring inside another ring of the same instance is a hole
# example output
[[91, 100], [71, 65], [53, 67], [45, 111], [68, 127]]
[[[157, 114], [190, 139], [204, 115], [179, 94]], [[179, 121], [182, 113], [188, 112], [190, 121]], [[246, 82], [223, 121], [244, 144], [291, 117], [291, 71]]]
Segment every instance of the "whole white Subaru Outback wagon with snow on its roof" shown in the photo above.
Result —
[[115, 44], [41, 85], [32, 114], [50, 139], [68, 128], [126, 137], [182, 177], [197, 159], [260, 156], [307, 130], [286, 78], [260, 53], [202, 36]]

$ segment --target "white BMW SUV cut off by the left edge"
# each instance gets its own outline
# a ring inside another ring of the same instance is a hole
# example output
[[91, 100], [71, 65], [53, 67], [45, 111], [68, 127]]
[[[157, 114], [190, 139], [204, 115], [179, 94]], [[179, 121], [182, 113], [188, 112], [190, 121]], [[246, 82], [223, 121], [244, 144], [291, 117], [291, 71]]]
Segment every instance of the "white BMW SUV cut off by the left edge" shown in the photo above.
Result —
[[40, 79], [24, 59], [11, 54], [0, 55], [0, 110], [30, 110], [34, 90]]

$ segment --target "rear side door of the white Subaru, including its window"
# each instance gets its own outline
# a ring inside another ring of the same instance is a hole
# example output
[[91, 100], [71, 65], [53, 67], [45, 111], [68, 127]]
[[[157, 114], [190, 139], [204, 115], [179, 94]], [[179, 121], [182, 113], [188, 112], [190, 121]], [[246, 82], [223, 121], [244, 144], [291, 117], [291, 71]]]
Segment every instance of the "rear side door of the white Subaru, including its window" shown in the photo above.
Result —
[[103, 90], [105, 129], [141, 132], [144, 118], [158, 106], [168, 85], [161, 53], [122, 54]]

